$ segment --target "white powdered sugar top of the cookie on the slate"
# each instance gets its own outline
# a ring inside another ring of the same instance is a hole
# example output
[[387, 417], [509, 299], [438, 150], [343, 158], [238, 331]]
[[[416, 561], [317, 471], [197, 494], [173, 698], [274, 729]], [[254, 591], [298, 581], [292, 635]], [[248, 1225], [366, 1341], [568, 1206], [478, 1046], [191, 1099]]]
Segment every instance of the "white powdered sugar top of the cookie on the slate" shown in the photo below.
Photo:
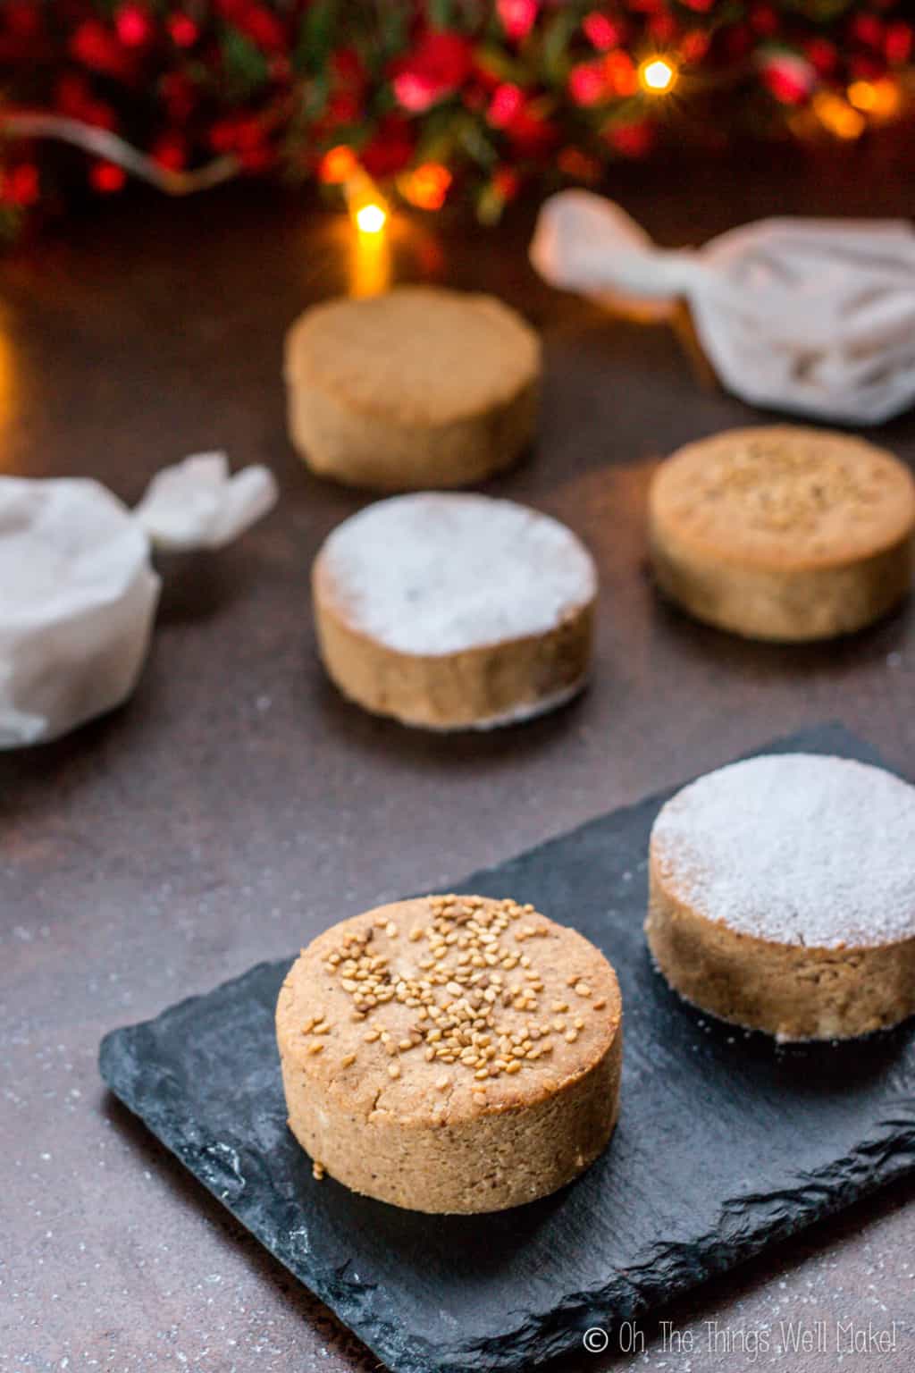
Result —
[[915, 936], [915, 787], [815, 754], [750, 758], [663, 807], [652, 853], [708, 920], [835, 949]]

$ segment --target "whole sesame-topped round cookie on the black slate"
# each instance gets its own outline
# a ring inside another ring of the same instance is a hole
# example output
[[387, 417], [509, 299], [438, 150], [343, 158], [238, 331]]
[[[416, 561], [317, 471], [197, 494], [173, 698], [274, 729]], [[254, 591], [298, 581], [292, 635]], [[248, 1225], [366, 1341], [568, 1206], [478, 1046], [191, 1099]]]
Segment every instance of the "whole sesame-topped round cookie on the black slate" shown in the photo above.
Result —
[[424, 897], [333, 925], [283, 983], [277, 1039], [316, 1175], [414, 1211], [546, 1196], [616, 1123], [616, 975], [514, 901]]

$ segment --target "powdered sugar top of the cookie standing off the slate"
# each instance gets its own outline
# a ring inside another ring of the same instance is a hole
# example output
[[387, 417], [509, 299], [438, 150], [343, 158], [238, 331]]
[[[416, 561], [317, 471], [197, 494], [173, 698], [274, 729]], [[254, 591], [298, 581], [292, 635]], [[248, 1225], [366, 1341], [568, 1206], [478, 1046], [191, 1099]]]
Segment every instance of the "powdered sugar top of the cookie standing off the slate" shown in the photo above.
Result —
[[488, 496], [377, 501], [318, 557], [350, 623], [401, 654], [545, 634], [597, 593], [591, 555], [571, 530]]

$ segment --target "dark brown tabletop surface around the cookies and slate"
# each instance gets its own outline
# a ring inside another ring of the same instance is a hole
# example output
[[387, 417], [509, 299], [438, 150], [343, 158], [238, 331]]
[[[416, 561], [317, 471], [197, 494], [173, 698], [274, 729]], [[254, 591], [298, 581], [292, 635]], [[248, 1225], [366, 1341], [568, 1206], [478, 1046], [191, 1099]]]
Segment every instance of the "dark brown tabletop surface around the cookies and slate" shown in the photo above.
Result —
[[[776, 211], [912, 210], [866, 162], [621, 187], [667, 243]], [[498, 232], [442, 221], [395, 235], [401, 279], [494, 290], [542, 327], [538, 452], [490, 489], [569, 523], [602, 577], [587, 695], [475, 737], [361, 715], [316, 662], [309, 564], [362, 498], [289, 452], [280, 346], [302, 306], [346, 287], [342, 217], [258, 188], [136, 198], [0, 264], [0, 470], [93, 475], [133, 501], [159, 465], [225, 446], [236, 464], [269, 463], [283, 487], [235, 548], [163, 564], [126, 708], [0, 758], [0, 1370], [376, 1366], [106, 1097], [96, 1050], [110, 1027], [805, 722], [841, 717], [915, 773], [911, 607], [855, 640], [786, 649], [656, 601], [642, 523], [653, 461], [756, 412], [700, 390], [665, 330], [547, 290], [525, 264], [528, 229], [519, 213]], [[915, 460], [915, 417], [878, 437]], [[680, 1302], [665, 1315], [691, 1350], [665, 1350], [642, 1322], [634, 1366], [820, 1373], [837, 1366], [835, 1321], [894, 1319], [894, 1352], [841, 1368], [910, 1370], [912, 1196], [897, 1186]], [[826, 1319], [830, 1352], [779, 1352], [782, 1319]], [[754, 1362], [734, 1352], [742, 1329], [768, 1330]]]

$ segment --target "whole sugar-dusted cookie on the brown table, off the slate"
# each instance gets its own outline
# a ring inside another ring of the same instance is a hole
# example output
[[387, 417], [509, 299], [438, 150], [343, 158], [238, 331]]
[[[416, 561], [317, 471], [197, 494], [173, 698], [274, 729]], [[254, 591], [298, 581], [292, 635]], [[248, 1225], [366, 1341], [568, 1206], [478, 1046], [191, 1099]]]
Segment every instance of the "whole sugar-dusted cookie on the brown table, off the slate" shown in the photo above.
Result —
[[421, 493], [344, 520], [311, 573], [324, 665], [379, 715], [486, 729], [582, 689], [597, 571], [558, 520], [487, 496]]

